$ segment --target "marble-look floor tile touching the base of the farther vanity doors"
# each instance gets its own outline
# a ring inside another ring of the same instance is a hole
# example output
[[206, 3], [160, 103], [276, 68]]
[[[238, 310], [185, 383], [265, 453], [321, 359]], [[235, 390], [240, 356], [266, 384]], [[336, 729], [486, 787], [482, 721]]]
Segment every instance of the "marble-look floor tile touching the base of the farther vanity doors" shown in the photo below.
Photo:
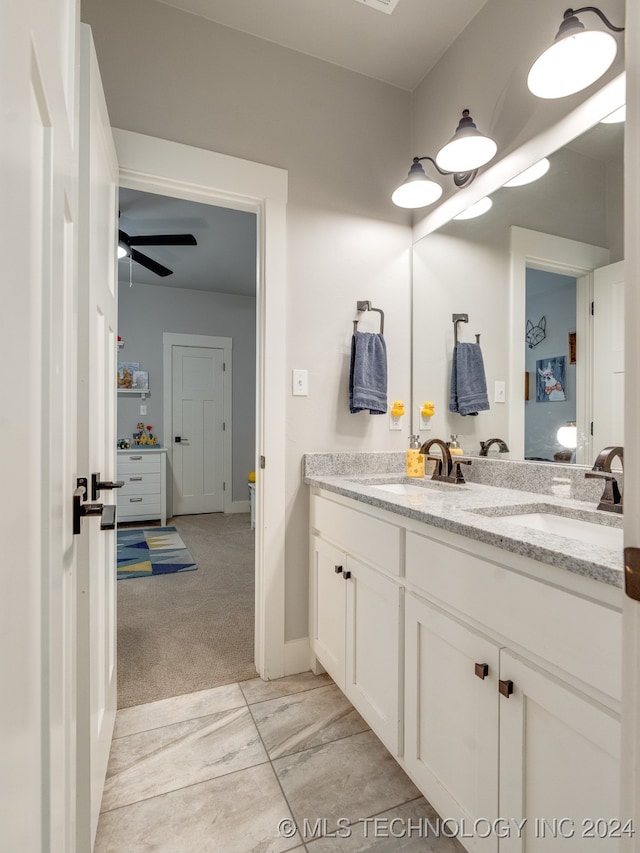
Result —
[[270, 758], [280, 758], [366, 731], [369, 726], [335, 686], [281, 696], [251, 706]]

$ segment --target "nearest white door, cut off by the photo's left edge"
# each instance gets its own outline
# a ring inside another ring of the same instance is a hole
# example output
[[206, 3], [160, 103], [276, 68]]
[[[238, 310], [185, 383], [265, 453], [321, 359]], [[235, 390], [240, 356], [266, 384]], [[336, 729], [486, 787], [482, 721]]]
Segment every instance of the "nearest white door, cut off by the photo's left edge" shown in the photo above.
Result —
[[3, 3], [0, 35], [0, 846], [21, 853], [75, 849], [78, 7]]

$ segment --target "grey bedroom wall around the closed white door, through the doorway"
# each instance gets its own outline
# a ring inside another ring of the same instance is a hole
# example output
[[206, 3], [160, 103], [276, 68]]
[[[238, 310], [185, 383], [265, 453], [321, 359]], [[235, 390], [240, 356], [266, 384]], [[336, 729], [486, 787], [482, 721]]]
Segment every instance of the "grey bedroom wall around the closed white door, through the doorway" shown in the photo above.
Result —
[[252, 296], [150, 284], [120, 284], [118, 289], [118, 333], [125, 341], [119, 360], [139, 362], [141, 370], [148, 370], [150, 391], [144, 416], [140, 397], [118, 396], [119, 438], [131, 439], [138, 421], [144, 421], [162, 444], [171, 441], [163, 435], [163, 332], [232, 339], [234, 501], [249, 499], [247, 474], [255, 464], [255, 321]]

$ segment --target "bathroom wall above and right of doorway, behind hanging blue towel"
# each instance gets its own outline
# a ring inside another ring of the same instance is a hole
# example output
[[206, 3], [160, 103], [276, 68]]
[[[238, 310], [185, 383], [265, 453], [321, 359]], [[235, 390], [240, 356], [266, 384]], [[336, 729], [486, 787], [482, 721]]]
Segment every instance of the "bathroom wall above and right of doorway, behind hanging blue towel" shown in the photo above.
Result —
[[370, 299], [386, 313], [389, 395], [408, 402], [410, 217], [390, 195], [410, 162], [411, 96], [153, 0], [84, 0], [82, 18], [114, 127], [289, 172], [282, 381], [306, 368], [310, 393], [287, 406], [286, 638], [304, 637], [302, 454], [406, 445], [408, 427], [347, 413], [346, 359], [356, 301]]

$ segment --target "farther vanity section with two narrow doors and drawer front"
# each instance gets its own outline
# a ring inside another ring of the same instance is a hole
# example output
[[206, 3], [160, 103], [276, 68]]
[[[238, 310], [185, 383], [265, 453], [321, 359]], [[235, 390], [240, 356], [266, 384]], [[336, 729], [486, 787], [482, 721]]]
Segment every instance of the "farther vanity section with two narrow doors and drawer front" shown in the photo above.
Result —
[[[400, 530], [329, 499], [314, 496], [312, 501], [312, 651], [387, 748], [399, 755]], [[360, 541], [358, 547], [357, 537], [369, 525], [366, 544]], [[371, 565], [374, 553], [378, 563], [381, 554], [387, 555], [390, 571]]]

